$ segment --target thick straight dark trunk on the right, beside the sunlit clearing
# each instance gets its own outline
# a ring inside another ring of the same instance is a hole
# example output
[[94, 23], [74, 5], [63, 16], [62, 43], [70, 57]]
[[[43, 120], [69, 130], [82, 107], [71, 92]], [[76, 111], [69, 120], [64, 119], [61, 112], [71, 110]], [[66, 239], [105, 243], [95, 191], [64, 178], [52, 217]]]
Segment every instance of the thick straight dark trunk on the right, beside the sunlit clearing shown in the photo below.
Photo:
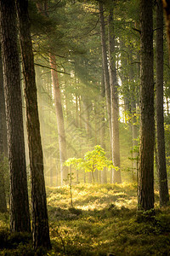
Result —
[[139, 209], [154, 208], [154, 80], [152, 1], [140, 0], [141, 87]]

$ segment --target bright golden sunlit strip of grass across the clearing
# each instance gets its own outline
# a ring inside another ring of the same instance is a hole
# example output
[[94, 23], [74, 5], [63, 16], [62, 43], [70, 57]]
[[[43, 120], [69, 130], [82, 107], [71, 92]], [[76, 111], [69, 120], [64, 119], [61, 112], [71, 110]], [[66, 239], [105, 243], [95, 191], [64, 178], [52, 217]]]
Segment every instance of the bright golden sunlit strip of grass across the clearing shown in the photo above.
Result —
[[[48, 188], [48, 204], [53, 207], [69, 207], [70, 187]], [[78, 184], [72, 187], [74, 207], [83, 210], [101, 210], [110, 204], [116, 207], [136, 207], [135, 185], [117, 184]]]

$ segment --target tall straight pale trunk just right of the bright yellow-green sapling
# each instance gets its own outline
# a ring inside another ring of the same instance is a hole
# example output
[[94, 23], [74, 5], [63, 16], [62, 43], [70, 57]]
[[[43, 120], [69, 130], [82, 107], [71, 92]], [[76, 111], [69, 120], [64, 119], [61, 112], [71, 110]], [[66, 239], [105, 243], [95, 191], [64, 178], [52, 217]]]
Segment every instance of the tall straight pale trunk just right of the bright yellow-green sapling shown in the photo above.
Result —
[[[113, 10], [109, 14], [109, 59], [111, 84], [111, 150], [113, 165], [120, 168], [119, 106], [116, 80], [115, 34]], [[113, 183], [122, 183], [121, 170], [113, 170]]]

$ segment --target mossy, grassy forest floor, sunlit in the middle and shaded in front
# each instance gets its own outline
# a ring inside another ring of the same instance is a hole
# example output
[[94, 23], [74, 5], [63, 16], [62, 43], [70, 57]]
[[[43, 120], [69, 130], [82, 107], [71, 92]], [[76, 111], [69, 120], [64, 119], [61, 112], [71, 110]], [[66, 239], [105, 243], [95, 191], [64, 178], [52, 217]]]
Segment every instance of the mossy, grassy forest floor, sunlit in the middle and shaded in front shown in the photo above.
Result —
[[10, 234], [0, 215], [0, 255], [170, 255], [170, 207], [137, 215], [133, 183], [47, 188], [53, 249], [34, 253], [31, 236]]

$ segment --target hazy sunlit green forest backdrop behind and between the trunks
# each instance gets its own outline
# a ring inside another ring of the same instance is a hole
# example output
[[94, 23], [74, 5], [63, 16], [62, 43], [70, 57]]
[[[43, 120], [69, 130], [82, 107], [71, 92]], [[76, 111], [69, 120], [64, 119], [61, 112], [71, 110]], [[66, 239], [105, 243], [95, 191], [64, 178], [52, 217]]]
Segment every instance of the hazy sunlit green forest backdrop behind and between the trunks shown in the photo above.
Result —
[[[59, 92], [65, 126], [65, 157], [83, 158], [95, 145], [105, 148], [111, 160], [110, 116], [105, 92], [102, 64], [99, 3], [48, 3], [43, 6], [46, 17], [39, 16], [31, 5], [31, 26], [37, 74], [38, 108], [40, 113], [44, 174], [48, 185], [60, 185], [59, 137], [54, 103], [54, 80], [50, 71], [49, 55], [55, 55]], [[139, 144], [139, 84], [140, 84], [140, 33], [138, 1], [116, 1], [104, 6], [105, 47], [109, 58], [108, 26], [110, 9], [113, 9], [111, 29], [114, 33], [114, 53], [111, 61], [116, 67], [117, 108], [119, 113], [119, 143], [122, 181], [135, 178]], [[156, 9], [156, 6], [155, 6]], [[33, 12], [34, 10], [34, 12]], [[156, 20], [156, 14], [155, 14]], [[42, 22], [44, 22], [42, 26]], [[81, 29], [80, 29], [81, 28]], [[42, 31], [45, 30], [45, 31]], [[154, 24], [156, 51], [156, 21]], [[169, 170], [168, 115], [169, 115], [169, 64], [166, 31], [164, 38], [164, 113], [167, 172]], [[52, 52], [52, 53], [51, 53]], [[110, 64], [110, 63], [109, 63]], [[155, 60], [156, 68], [156, 60]], [[156, 73], [156, 70], [155, 70]], [[156, 79], [156, 75], [155, 75]], [[155, 89], [156, 91], [156, 89]], [[106, 97], [106, 100], [105, 100]], [[117, 151], [118, 151], [118, 147]], [[155, 161], [156, 163], [156, 161]], [[75, 170], [76, 171], [76, 170]], [[84, 176], [91, 181], [92, 173], [79, 172], [77, 182]], [[95, 181], [105, 183], [102, 174]], [[107, 172], [108, 182], [113, 182]]]

